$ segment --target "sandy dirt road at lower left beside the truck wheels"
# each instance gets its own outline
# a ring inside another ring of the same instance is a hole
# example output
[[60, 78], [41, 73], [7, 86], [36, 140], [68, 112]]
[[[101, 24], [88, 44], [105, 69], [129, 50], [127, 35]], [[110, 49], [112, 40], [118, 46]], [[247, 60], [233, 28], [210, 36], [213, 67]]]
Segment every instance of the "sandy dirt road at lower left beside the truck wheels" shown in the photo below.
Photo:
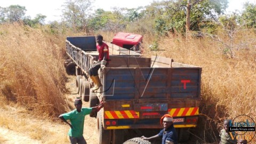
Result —
[[[66, 95], [70, 103], [78, 96], [76, 94], [76, 76], [69, 76]], [[88, 107], [88, 102], [83, 102]], [[85, 116], [84, 138], [87, 143], [98, 143], [96, 119]], [[0, 143], [69, 143], [69, 126], [63, 122], [52, 122], [49, 119], [31, 116], [20, 107], [0, 107]]]

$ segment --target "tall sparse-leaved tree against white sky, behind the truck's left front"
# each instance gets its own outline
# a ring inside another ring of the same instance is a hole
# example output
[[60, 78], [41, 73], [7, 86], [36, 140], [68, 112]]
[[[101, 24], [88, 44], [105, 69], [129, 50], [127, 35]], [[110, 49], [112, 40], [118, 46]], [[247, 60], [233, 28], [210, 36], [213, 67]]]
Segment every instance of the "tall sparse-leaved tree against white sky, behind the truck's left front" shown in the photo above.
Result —
[[92, 0], [67, 0], [62, 15], [73, 29], [87, 31], [87, 22], [90, 17]]

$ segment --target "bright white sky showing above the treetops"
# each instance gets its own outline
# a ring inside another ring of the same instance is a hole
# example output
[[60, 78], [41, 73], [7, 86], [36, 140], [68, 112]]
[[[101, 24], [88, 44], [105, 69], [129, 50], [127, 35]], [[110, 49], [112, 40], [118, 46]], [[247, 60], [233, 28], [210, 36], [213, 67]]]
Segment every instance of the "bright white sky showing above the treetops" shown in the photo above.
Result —
[[[139, 6], [150, 5], [154, 0], [94, 0], [94, 9], [103, 9], [105, 11], [112, 10], [113, 7], [127, 7], [129, 9]], [[159, 0], [155, 0], [159, 1]], [[242, 10], [243, 3], [247, 0], [228, 0], [229, 7], [227, 12]], [[248, 0], [251, 3], [255, 3], [256, 0]], [[60, 20], [62, 5], [66, 0], [0, 0], [1, 7], [8, 7], [10, 5], [25, 6], [26, 16], [30, 16], [32, 19], [36, 14], [46, 15], [45, 21]]]

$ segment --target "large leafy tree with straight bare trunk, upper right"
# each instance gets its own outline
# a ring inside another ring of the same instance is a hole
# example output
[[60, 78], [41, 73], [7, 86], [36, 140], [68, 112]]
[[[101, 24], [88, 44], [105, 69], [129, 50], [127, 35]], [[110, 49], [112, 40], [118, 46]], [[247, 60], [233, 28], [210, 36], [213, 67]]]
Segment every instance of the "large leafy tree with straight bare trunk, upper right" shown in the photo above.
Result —
[[164, 20], [167, 29], [183, 33], [186, 29], [200, 30], [207, 20], [217, 19], [228, 3], [227, 0], [190, 0], [189, 4], [187, 2], [187, 0], [154, 2], [147, 7], [148, 14], [155, 19]]

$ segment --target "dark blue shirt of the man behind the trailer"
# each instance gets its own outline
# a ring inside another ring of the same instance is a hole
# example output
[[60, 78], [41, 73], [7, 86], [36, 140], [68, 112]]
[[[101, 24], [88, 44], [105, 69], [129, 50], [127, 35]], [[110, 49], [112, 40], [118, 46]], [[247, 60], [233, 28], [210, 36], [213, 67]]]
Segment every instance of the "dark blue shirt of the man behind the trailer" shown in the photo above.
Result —
[[174, 144], [178, 144], [178, 136], [173, 124], [168, 129], [160, 131], [158, 136], [162, 138], [162, 144], [165, 144], [166, 141], [172, 141]]

